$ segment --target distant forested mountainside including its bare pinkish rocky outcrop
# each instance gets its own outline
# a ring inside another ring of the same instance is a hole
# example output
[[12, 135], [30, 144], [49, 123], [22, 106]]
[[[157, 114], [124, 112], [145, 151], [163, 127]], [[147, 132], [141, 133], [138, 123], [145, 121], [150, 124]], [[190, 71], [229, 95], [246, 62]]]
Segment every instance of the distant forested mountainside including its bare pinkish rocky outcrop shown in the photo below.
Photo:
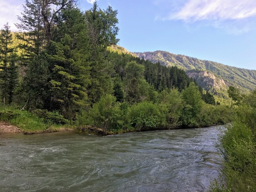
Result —
[[[241, 90], [254, 90], [256, 88], [256, 70], [236, 68], [221, 63], [200, 60], [185, 55], [176, 55], [166, 51], [134, 52], [139, 58], [159, 62], [165, 66], [183, 68], [188, 76], [196, 78], [198, 84], [208, 89], [227, 89], [229, 85], [237, 86]], [[203, 73], [202, 71], [207, 71]], [[209, 81], [206, 81], [206, 77]], [[219, 82], [221, 82], [219, 84]]]

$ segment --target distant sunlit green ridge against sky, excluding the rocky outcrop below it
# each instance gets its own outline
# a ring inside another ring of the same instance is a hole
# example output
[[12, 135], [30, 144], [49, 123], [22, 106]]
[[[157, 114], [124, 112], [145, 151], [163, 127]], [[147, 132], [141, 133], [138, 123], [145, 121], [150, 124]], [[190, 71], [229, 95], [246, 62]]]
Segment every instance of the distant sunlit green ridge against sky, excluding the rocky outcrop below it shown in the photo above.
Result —
[[254, 90], [256, 88], [256, 70], [231, 67], [214, 61], [176, 55], [166, 51], [136, 52], [134, 54], [140, 58], [144, 57], [145, 60], [160, 62], [166, 66], [178, 66], [186, 71], [209, 71], [214, 76], [223, 79], [227, 85], [234, 85], [242, 90]]

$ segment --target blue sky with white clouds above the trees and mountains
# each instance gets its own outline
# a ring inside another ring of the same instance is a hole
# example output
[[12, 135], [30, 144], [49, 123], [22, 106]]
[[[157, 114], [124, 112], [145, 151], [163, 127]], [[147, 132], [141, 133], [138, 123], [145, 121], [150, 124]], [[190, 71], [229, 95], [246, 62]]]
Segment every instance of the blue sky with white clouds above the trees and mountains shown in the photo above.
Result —
[[[95, 0], [79, 0], [82, 11]], [[98, 0], [118, 10], [120, 46], [163, 50], [256, 70], [256, 0]], [[17, 30], [24, 0], [0, 0], [0, 28]]]

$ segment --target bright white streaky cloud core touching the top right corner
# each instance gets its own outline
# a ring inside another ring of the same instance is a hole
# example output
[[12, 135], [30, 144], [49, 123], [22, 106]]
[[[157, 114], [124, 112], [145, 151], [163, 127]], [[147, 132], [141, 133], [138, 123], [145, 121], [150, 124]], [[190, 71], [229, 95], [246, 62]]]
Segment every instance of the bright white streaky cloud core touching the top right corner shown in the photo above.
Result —
[[180, 11], [165, 19], [198, 20], [241, 20], [256, 16], [255, 0], [188, 0]]

